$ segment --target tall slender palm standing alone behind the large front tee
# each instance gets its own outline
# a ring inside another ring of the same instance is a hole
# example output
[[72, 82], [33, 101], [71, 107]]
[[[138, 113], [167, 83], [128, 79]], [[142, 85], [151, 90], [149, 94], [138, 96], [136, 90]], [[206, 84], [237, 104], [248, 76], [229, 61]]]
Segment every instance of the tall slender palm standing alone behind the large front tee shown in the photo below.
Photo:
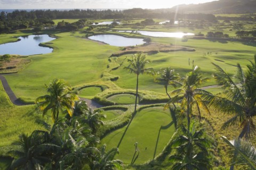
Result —
[[137, 108], [137, 100], [138, 100], [138, 87], [139, 87], [139, 75], [140, 74], [149, 74], [154, 75], [153, 68], [145, 68], [146, 64], [150, 62], [150, 60], [146, 59], [146, 55], [142, 53], [138, 53], [133, 55], [132, 59], [128, 60], [130, 63], [129, 66], [124, 67], [124, 69], [128, 70], [130, 73], [134, 73], [137, 75], [137, 85], [136, 85], [136, 97], [135, 97], [135, 108], [134, 108], [134, 115], [136, 113]]

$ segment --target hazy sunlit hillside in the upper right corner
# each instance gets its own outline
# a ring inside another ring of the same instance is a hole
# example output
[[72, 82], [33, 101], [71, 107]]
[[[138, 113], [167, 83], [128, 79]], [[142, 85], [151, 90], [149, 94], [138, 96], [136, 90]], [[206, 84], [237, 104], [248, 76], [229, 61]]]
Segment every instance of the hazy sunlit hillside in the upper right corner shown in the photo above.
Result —
[[203, 4], [177, 5], [171, 8], [179, 13], [256, 13], [256, 0], [219, 0]]

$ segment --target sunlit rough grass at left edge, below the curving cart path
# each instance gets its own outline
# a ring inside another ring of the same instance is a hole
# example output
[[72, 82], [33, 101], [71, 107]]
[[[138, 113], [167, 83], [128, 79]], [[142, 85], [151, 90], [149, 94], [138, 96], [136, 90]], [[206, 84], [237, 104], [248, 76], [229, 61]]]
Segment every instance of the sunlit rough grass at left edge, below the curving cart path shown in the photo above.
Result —
[[0, 83], [0, 117], [0, 155], [6, 154], [11, 143], [18, 140], [21, 133], [30, 134], [34, 130], [43, 129], [41, 125], [35, 123], [37, 118], [42, 118], [42, 115], [35, 112], [35, 106], [12, 105], [2, 83]]

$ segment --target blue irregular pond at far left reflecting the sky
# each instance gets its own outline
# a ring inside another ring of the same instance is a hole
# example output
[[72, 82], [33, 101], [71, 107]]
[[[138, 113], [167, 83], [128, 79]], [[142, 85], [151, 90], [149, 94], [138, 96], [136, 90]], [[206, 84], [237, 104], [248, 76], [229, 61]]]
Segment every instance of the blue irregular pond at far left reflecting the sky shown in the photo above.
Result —
[[52, 48], [41, 47], [40, 43], [46, 43], [55, 38], [49, 35], [30, 35], [18, 37], [20, 41], [0, 45], [0, 55], [18, 54], [18, 55], [35, 55], [52, 53]]

